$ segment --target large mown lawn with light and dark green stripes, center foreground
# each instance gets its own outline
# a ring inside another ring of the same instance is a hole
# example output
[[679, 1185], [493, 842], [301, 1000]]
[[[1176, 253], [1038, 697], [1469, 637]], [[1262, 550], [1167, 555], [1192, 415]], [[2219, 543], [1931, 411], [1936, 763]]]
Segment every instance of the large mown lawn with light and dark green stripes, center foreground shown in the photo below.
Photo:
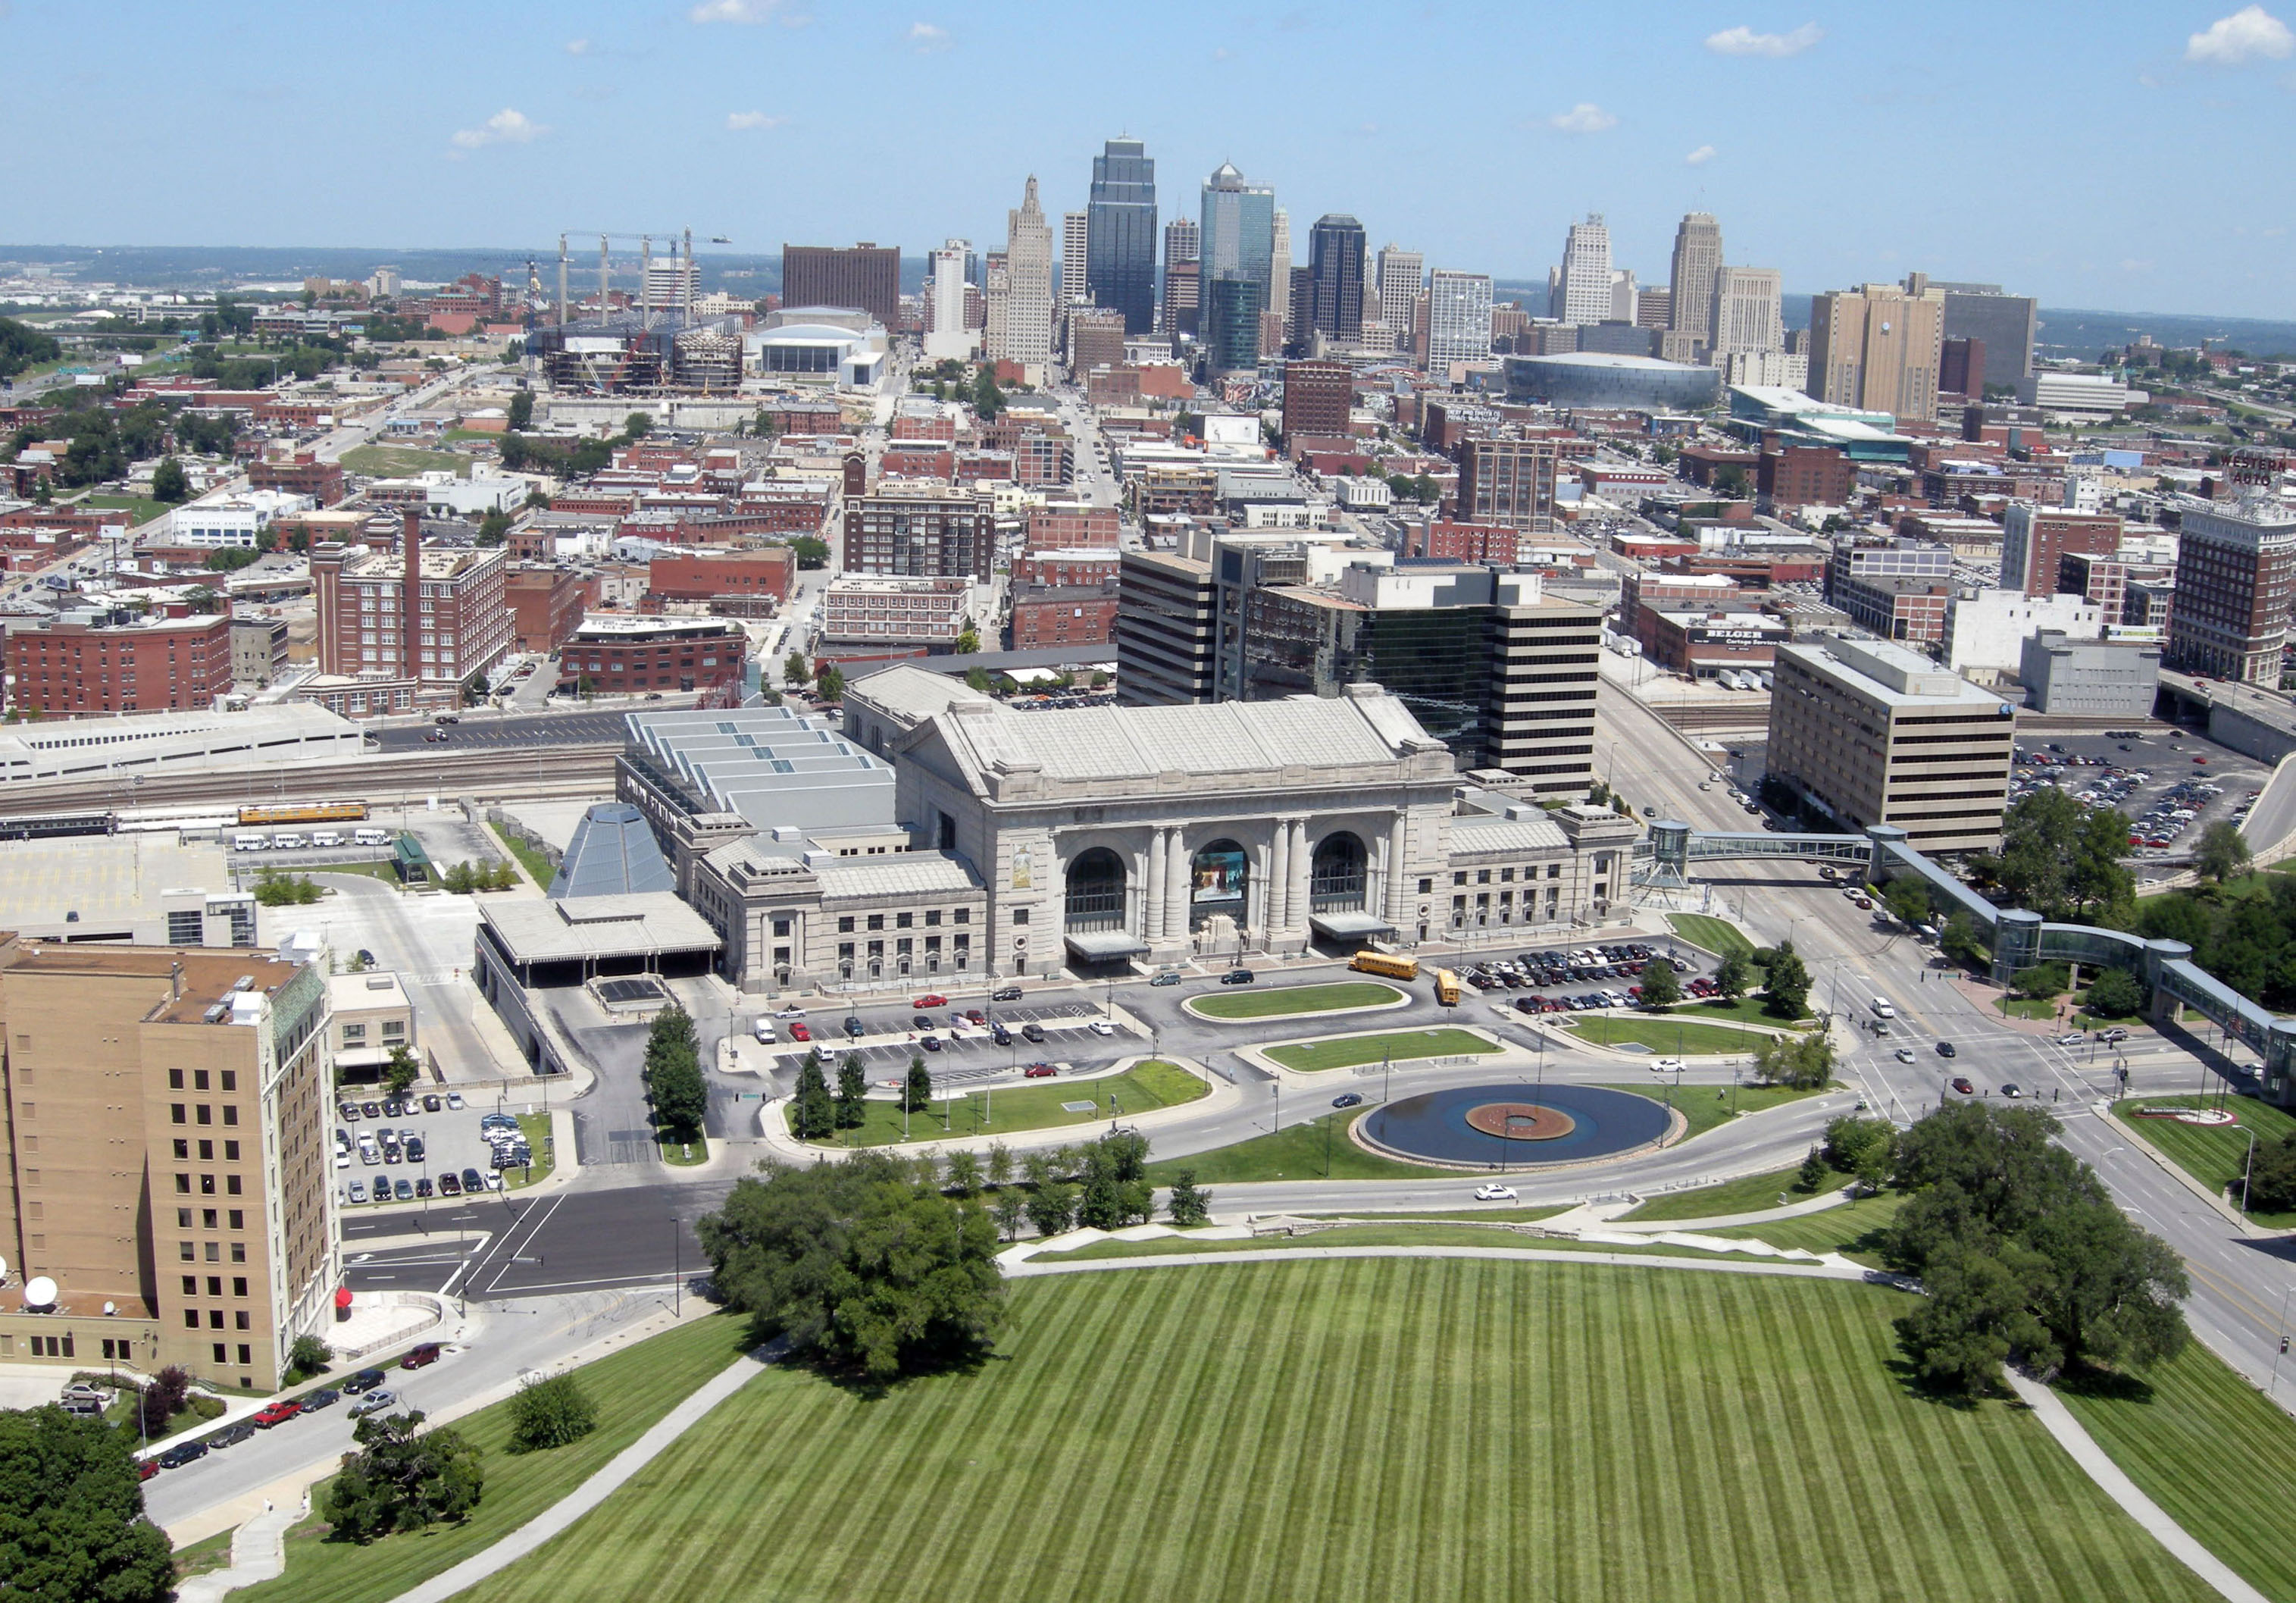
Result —
[[484, 1594], [2213, 1596], [2023, 1410], [1910, 1396], [1906, 1307], [1490, 1261], [1024, 1281], [994, 1360], [767, 1371]]

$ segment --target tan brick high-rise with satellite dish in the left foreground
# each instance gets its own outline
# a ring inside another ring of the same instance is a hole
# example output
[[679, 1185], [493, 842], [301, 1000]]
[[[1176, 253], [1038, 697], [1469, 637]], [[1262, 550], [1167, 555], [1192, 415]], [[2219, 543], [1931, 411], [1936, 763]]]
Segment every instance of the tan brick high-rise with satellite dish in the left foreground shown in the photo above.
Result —
[[0, 1362], [280, 1383], [342, 1275], [326, 1015], [271, 953], [0, 935]]

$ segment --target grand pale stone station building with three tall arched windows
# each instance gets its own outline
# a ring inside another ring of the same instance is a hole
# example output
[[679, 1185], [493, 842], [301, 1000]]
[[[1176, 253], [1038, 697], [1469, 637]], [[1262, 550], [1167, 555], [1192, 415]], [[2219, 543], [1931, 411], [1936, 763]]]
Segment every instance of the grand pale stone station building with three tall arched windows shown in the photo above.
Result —
[[1626, 896], [1639, 834], [1460, 774], [1375, 684], [1026, 710], [893, 666], [808, 735], [891, 769], [891, 818], [850, 790], [850, 818], [760, 829], [682, 799], [659, 758], [622, 762], [751, 992], [1554, 942]]

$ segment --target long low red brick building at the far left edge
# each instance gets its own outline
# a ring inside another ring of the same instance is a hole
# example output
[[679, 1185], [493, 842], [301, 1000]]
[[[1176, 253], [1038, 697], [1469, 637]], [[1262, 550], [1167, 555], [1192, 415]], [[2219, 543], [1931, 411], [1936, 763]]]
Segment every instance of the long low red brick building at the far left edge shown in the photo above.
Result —
[[28, 717], [207, 712], [232, 689], [232, 620], [46, 622], [7, 636], [9, 705]]

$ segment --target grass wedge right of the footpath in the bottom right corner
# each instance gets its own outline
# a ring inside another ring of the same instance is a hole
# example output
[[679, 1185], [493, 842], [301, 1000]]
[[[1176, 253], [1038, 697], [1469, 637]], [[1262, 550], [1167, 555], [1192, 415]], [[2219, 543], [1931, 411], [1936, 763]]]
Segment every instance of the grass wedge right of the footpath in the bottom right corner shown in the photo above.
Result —
[[2296, 1419], [2197, 1341], [2140, 1383], [2076, 1380], [2057, 1392], [2209, 1552], [2266, 1596], [2296, 1596], [2282, 1518], [2296, 1497]]

